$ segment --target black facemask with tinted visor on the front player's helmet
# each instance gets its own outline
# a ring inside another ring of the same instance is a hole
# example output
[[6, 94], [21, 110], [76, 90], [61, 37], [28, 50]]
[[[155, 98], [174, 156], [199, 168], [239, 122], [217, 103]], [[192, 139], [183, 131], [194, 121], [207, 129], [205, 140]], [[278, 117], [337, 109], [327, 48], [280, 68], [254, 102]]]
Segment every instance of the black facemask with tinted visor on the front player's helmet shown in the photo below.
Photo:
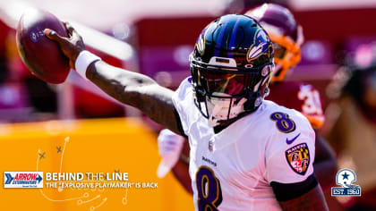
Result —
[[273, 63], [258, 68], [239, 68], [231, 58], [213, 57], [209, 63], [201, 63], [191, 56], [195, 105], [213, 126], [250, 113], [269, 93], [272, 69]]

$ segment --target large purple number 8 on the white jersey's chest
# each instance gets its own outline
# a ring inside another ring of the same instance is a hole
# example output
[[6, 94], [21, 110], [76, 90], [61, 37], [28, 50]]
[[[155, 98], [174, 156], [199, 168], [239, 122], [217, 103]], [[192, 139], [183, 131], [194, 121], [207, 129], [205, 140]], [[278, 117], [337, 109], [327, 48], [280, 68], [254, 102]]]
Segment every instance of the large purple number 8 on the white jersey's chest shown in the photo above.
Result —
[[200, 211], [218, 210], [222, 203], [222, 190], [220, 183], [213, 171], [207, 166], [201, 166], [196, 173], [196, 186], [198, 194], [198, 207]]

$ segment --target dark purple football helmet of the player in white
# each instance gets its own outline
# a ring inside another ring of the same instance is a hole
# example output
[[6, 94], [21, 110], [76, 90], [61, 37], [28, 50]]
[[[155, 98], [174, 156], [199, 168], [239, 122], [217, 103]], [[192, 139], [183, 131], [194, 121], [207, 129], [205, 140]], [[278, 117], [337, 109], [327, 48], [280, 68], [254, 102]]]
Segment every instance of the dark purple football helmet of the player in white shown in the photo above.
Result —
[[190, 61], [195, 105], [213, 125], [253, 112], [269, 92], [273, 46], [249, 16], [228, 14], [209, 23]]

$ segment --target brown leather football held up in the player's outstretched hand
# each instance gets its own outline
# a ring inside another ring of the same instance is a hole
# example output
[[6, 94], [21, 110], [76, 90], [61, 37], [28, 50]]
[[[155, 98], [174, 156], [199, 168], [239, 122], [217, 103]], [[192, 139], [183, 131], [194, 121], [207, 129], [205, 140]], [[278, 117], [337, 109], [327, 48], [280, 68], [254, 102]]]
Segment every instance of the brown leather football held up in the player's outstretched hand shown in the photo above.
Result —
[[56, 42], [45, 36], [45, 29], [68, 37], [64, 24], [52, 13], [35, 8], [22, 13], [16, 30], [18, 52], [23, 63], [39, 79], [48, 83], [63, 83], [70, 70], [69, 60]]

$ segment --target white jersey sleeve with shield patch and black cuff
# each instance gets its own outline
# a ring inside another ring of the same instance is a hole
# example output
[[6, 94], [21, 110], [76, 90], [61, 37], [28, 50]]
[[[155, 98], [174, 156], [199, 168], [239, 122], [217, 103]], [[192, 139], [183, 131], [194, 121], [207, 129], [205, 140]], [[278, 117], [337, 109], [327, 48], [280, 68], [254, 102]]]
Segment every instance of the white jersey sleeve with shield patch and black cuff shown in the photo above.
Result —
[[[295, 118], [298, 115], [300, 118]], [[313, 173], [315, 134], [303, 115], [298, 115], [286, 120], [295, 123], [295, 130], [283, 131], [281, 126], [269, 137], [266, 148], [266, 180], [278, 200], [298, 197], [317, 185]]]

